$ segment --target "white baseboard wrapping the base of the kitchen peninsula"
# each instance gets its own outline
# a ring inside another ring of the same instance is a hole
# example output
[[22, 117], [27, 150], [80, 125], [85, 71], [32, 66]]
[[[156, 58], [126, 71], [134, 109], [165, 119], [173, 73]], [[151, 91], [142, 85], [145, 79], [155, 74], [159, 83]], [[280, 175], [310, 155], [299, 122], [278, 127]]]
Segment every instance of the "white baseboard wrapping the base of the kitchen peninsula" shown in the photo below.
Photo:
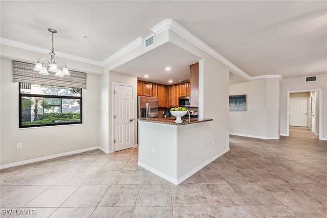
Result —
[[226, 152], [229, 151], [229, 147], [227, 149], [225, 149], [224, 151], [220, 152], [219, 154], [215, 155], [214, 157], [208, 159], [207, 161], [205, 161], [204, 163], [200, 164], [199, 166], [195, 167], [194, 169], [192, 169], [192, 171], [190, 171], [189, 173], [185, 174], [184, 176], [175, 179], [173, 177], [170, 177], [166, 174], [163, 174], [159, 171], [157, 171], [157, 169], [138, 161], [137, 165], [142, 166], [143, 168], [147, 169], [148, 171], [150, 171], [151, 173], [154, 173], [155, 175], [161, 177], [162, 179], [166, 179], [167, 181], [178, 185], [180, 183], [182, 183], [184, 180], [188, 179], [189, 177], [191, 177], [193, 174], [195, 174], [196, 172], [198, 172], [200, 169], [202, 169], [204, 166], [208, 165], [209, 163], [211, 163], [212, 161], [216, 160], [218, 157], [222, 156], [223, 154], [225, 154]]

